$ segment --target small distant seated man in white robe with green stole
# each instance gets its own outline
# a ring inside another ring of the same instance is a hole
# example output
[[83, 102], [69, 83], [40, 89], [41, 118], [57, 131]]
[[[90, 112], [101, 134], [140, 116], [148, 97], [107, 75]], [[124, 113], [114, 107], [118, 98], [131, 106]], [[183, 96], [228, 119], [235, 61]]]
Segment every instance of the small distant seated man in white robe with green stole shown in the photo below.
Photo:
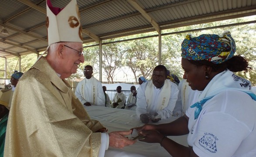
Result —
[[113, 101], [112, 101], [113, 103], [111, 104], [111, 107], [121, 109], [124, 107], [125, 101], [126, 101], [126, 96], [122, 92], [122, 87], [117, 86], [116, 94], [113, 98]]

